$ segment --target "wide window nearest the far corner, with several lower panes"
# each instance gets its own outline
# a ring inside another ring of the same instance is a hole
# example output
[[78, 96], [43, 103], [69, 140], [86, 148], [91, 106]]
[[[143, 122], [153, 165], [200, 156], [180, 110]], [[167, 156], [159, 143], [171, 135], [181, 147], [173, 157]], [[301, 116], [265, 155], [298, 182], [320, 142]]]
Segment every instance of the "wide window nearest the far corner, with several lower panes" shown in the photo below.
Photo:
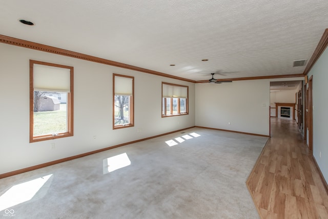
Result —
[[188, 86], [162, 82], [162, 117], [188, 114]]

